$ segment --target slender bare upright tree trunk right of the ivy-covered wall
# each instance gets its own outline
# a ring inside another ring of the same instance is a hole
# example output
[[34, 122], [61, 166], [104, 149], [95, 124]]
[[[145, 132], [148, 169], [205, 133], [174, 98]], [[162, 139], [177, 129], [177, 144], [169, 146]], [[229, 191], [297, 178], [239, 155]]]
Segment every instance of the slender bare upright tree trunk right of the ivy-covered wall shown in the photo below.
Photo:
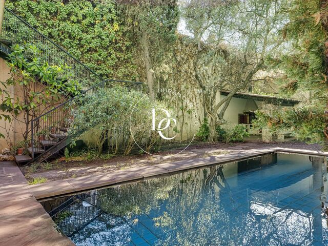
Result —
[[144, 50], [144, 59], [145, 59], [145, 69], [146, 69], [146, 77], [147, 77], [147, 86], [149, 89], [149, 95], [151, 100], [156, 99], [155, 93], [155, 85], [154, 85], [154, 70], [152, 66], [152, 60], [150, 57], [149, 51], [149, 42], [147, 33], [145, 31], [141, 32], [141, 40], [142, 40], [142, 49]]

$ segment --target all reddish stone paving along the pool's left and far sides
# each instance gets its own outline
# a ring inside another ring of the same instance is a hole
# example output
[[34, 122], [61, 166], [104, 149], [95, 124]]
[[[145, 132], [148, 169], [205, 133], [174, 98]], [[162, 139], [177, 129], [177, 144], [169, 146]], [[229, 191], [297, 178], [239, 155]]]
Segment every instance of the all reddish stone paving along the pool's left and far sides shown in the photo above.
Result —
[[[218, 149], [195, 149], [204, 157], [164, 162], [126, 170], [55, 180], [39, 185], [28, 182], [12, 161], [0, 162], [0, 246], [4, 245], [75, 245], [54, 229], [54, 222], [36, 199], [106, 187], [122, 182], [170, 175], [181, 170], [201, 168], [215, 163], [231, 162], [253, 156], [286, 152], [328, 156], [328, 152], [291, 148], [257, 148], [244, 150], [232, 147], [229, 154], [215, 155]], [[213, 153], [214, 155], [211, 155]]]

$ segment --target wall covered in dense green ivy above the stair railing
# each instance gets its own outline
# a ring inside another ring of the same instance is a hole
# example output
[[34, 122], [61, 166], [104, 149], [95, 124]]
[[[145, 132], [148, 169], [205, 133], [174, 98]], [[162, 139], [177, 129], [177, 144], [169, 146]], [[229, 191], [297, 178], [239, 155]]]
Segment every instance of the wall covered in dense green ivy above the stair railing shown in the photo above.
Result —
[[127, 30], [113, 0], [7, 0], [6, 7], [103, 77], [134, 80]]

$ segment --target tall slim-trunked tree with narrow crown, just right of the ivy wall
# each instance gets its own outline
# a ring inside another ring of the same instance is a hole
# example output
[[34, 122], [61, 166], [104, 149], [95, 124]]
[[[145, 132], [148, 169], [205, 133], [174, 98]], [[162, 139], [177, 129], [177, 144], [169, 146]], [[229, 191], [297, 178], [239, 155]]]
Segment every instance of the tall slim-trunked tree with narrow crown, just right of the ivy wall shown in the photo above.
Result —
[[[151, 99], [156, 98], [156, 70], [162, 57], [172, 48], [176, 39], [178, 8], [176, 0], [122, 1], [126, 25], [131, 40], [141, 52]], [[137, 53], [138, 54], [138, 53]]]

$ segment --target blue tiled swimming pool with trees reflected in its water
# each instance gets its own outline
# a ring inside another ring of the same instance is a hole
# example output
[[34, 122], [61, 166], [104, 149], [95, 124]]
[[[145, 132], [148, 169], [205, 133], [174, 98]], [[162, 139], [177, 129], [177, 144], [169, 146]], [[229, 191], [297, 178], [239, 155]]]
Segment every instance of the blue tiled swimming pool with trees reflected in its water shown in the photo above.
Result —
[[44, 206], [66, 200], [52, 214], [77, 245], [328, 245], [326, 177], [323, 158], [272, 154]]

